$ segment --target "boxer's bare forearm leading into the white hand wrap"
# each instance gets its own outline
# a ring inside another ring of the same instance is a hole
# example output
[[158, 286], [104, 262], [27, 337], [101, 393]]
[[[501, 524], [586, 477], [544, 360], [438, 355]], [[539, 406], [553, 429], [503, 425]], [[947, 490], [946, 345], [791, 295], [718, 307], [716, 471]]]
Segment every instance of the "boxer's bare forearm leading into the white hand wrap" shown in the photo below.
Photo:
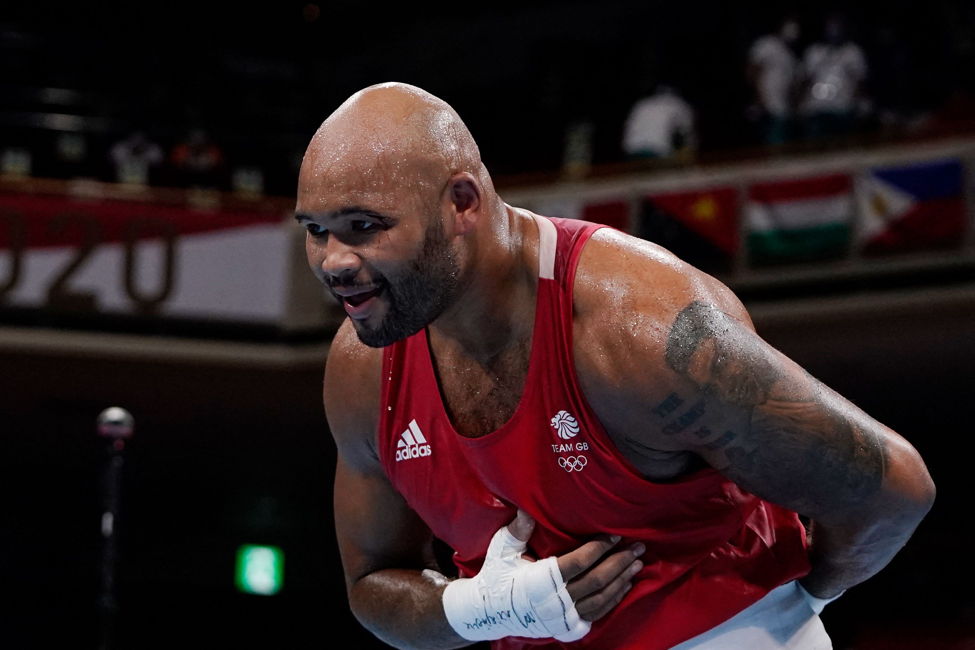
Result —
[[349, 603], [367, 630], [394, 647], [460, 648], [471, 641], [453, 631], [444, 613], [449, 582], [430, 569], [382, 569], [356, 581]]

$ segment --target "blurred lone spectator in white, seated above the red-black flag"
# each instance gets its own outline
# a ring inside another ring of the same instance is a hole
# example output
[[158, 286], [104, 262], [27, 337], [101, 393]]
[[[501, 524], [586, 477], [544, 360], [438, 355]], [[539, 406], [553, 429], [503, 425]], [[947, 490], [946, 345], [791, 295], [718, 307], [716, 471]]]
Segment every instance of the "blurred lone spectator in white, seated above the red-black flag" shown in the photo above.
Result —
[[626, 118], [623, 151], [633, 158], [668, 158], [696, 144], [694, 109], [669, 86], [637, 101]]

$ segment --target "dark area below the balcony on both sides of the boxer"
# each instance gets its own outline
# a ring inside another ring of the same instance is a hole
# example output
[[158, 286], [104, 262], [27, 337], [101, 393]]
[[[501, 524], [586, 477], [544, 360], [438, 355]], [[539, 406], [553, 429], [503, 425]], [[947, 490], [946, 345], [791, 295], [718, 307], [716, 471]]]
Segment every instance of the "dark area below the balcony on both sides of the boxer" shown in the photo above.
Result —
[[[836, 647], [970, 647], [960, 639], [975, 629], [975, 301], [757, 325], [911, 440], [938, 485], [908, 547], [827, 609]], [[328, 647], [337, 638], [380, 646], [345, 599], [319, 363], [273, 370], [28, 354], [0, 363], [4, 647], [94, 647], [94, 422], [113, 403], [137, 421], [119, 520], [119, 647]], [[244, 543], [284, 549], [281, 593], [235, 591]]]

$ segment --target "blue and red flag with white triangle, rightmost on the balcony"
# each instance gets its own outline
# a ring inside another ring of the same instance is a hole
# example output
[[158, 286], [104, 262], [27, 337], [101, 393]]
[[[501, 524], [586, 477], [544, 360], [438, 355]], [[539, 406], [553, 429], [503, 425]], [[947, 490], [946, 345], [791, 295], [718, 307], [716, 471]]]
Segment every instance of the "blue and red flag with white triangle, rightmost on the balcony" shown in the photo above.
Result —
[[961, 163], [941, 160], [866, 172], [857, 196], [857, 243], [867, 254], [961, 244], [965, 206]]

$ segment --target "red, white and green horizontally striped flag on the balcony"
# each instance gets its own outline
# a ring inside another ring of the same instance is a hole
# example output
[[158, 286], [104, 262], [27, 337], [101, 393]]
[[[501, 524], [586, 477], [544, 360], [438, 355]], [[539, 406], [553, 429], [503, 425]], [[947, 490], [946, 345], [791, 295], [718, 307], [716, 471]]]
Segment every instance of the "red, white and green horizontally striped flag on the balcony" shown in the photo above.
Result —
[[745, 218], [753, 264], [841, 257], [850, 242], [852, 181], [833, 174], [752, 185]]

